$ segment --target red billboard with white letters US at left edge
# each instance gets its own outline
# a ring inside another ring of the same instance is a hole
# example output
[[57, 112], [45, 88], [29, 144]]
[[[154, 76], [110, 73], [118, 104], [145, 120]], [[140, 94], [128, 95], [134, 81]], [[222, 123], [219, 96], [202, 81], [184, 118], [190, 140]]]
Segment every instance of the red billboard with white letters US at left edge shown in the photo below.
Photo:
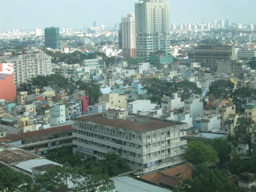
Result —
[[12, 63], [0, 63], [0, 99], [16, 97], [14, 68]]

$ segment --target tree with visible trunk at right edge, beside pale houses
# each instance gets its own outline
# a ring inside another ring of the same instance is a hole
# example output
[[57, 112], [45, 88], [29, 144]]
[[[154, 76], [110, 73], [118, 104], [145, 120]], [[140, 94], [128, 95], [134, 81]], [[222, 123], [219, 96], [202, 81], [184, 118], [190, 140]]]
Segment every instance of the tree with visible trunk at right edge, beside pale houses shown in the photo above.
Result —
[[248, 144], [249, 155], [251, 155], [252, 142], [255, 140], [256, 135], [255, 123], [245, 118], [238, 118], [234, 132], [237, 139], [241, 139]]

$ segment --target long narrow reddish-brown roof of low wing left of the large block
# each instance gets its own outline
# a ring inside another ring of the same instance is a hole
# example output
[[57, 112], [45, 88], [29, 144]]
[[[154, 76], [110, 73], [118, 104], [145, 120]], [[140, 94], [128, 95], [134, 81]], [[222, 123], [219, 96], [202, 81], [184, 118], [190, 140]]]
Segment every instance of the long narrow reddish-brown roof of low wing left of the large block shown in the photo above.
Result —
[[72, 125], [64, 125], [64, 126], [53, 127], [53, 128], [49, 128], [49, 129], [41, 129], [38, 131], [30, 131], [30, 132], [26, 132], [26, 133], [8, 134], [7, 136], [11, 139], [19, 140], [19, 139], [23, 139], [23, 138], [30, 138], [30, 137], [34, 137], [34, 136], [45, 135], [45, 134], [49, 134], [49, 133], [56, 133], [56, 132], [67, 131], [67, 130], [74, 130], [74, 129], [72, 129]]

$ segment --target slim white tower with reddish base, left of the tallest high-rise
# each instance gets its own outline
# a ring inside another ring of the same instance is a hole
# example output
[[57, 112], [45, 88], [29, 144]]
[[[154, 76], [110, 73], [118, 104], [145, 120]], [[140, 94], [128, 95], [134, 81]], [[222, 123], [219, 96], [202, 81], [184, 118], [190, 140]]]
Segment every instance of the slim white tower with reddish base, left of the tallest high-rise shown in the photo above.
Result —
[[135, 45], [135, 15], [129, 13], [127, 17], [122, 17], [120, 25], [122, 37], [123, 56], [136, 57]]

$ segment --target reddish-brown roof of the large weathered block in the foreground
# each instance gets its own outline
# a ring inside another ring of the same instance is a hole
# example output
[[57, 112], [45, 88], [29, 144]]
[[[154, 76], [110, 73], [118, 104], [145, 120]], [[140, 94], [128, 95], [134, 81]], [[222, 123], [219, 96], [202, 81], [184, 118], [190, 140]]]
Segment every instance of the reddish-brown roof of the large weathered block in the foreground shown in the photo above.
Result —
[[103, 118], [102, 114], [78, 117], [78, 119], [82, 119], [82, 120], [93, 121], [95, 123], [101, 123], [105, 125], [111, 125], [114, 127], [131, 129], [133, 131], [139, 131], [139, 132], [153, 131], [156, 129], [162, 129], [165, 127], [172, 127], [172, 126], [178, 125], [176, 123], [171, 123], [168, 121], [161, 121], [161, 120], [156, 120], [156, 119], [151, 119], [146, 117], [133, 116], [130, 118], [144, 120], [146, 122], [138, 123], [135, 121], [123, 120], [123, 119], [110, 120], [110, 119]]

